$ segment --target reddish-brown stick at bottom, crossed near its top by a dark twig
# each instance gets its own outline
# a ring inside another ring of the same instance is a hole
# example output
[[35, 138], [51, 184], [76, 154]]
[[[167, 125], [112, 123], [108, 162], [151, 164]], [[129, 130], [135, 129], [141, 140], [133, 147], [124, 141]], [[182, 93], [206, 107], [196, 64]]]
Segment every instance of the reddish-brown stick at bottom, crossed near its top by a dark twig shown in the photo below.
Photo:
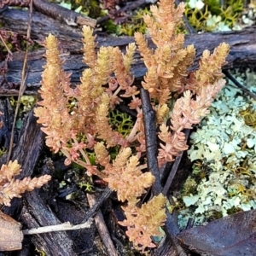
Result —
[[[93, 207], [96, 204], [96, 197], [95, 195], [87, 194], [87, 199], [89, 202], [90, 207]], [[118, 253], [113, 246], [113, 241], [111, 240], [111, 237], [109, 235], [107, 226], [105, 224], [104, 218], [102, 216], [102, 211], [98, 210], [96, 212], [96, 216], [94, 218], [97, 230], [99, 232], [99, 235], [101, 236], [102, 242], [104, 246], [106, 247], [108, 256], [118, 256]]]

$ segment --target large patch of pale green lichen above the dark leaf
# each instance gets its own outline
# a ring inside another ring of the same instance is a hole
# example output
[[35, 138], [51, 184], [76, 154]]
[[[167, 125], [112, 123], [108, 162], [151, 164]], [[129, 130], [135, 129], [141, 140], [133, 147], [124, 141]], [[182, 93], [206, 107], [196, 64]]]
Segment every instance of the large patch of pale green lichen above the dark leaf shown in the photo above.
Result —
[[[252, 77], [247, 72], [245, 78], [237, 79], [255, 91], [256, 81]], [[190, 187], [191, 178], [198, 185], [195, 193], [182, 192], [186, 209], [179, 212], [181, 227], [191, 217], [195, 224], [203, 224], [230, 212], [256, 209], [256, 129], [241, 117], [247, 109], [255, 113], [255, 103], [229, 82], [213, 102], [211, 114], [191, 134], [188, 154], [197, 164], [184, 186]]]

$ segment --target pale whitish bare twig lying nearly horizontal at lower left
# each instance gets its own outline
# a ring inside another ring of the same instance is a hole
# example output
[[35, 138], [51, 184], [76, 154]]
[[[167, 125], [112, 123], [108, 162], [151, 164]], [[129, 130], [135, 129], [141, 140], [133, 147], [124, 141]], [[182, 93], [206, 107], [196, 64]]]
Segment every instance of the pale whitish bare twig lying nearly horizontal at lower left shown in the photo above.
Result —
[[89, 229], [92, 223], [92, 218], [89, 221], [86, 221], [84, 224], [72, 225], [70, 222], [65, 222], [62, 224], [49, 225], [45, 227], [39, 227], [31, 230], [22, 230], [23, 235], [34, 235], [34, 234], [42, 234], [48, 232], [56, 232], [56, 231], [65, 231], [65, 230], [81, 230], [81, 229]]

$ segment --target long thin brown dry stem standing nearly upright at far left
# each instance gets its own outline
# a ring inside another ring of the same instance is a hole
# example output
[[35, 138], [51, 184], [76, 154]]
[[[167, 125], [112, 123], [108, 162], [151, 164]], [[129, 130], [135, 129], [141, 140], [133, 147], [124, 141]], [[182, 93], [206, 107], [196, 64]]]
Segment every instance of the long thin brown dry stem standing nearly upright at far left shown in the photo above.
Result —
[[[28, 20], [28, 25], [27, 25], [27, 30], [26, 30], [26, 39], [30, 38], [30, 34], [31, 34], [31, 24], [32, 24], [32, 2], [30, 2], [29, 4], [29, 20]], [[7, 156], [7, 164], [10, 160], [11, 154], [12, 154], [12, 148], [13, 148], [13, 143], [14, 143], [14, 137], [15, 137], [15, 124], [16, 124], [16, 119], [17, 119], [17, 115], [19, 112], [19, 108], [20, 108], [20, 98], [23, 95], [24, 91], [26, 90], [26, 77], [27, 77], [27, 73], [26, 73], [26, 62], [27, 62], [27, 55], [28, 55], [28, 41], [26, 40], [26, 52], [25, 52], [25, 56], [24, 56], [24, 61], [23, 61], [23, 67], [22, 67], [22, 72], [21, 72], [21, 81], [20, 81], [20, 90], [19, 90], [19, 96], [18, 96], [18, 101], [17, 101], [17, 105], [15, 108], [15, 118], [14, 118], [14, 122], [12, 125], [12, 131], [11, 131], [11, 137], [10, 137], [10, 142], [9, 142], [9, 152], [8, 152], [8, 156]]]

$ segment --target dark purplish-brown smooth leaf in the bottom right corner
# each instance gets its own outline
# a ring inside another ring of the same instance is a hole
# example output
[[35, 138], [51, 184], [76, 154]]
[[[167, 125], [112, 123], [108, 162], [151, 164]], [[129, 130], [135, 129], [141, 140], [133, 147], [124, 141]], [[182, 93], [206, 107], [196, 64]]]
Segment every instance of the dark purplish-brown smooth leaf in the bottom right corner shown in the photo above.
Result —
[[256, 210], [219, 218], [184, 230], [178, 238], [196, 253], [212, 256], [252, 256], [256, 252]]

